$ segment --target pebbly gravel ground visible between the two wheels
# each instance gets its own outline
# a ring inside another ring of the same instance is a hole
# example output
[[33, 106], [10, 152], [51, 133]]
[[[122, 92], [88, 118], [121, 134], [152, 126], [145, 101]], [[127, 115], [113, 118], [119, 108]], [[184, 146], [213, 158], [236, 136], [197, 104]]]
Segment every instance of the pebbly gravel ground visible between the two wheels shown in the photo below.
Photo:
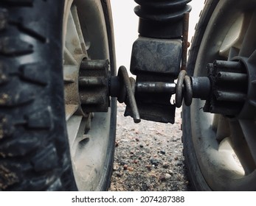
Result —
[[117, 142], [109, 191], [188, 191], [181, 143], [181, 110], [175, 124], [124, 117], [117, 108]]

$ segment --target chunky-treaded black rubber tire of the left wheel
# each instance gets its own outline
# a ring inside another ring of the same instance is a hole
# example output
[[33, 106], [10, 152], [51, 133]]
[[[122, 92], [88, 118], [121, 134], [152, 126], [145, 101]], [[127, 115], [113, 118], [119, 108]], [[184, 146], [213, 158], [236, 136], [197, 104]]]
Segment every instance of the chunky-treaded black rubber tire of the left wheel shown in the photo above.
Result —
[[[102, 4], [114, 75], [108, 3]], [[63, 0], [0, 2], [0, 191], [77, 190], [63, 95], [63, 7]], [[108, 189], [114, 160], [117, 104], [111, 103], [101, 190]]]

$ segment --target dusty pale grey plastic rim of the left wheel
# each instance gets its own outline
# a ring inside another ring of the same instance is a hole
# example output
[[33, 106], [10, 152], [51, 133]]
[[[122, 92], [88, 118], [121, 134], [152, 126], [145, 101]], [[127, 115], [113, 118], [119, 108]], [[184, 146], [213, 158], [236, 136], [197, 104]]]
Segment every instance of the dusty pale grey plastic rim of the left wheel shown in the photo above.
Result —
[[[66, 0], [63, 41], [66, 125], [75, 180], [80, 191], [100, 191], [108, 167], [111, 107], [108, 113], [77, 114], [79, 99], [67, 97], [66, 85], [72, 73], [77, 81], [80, 62], [84, 58], [110, 58], [101, 1]], [[78, 88], [75, 93], [78, 93]]]

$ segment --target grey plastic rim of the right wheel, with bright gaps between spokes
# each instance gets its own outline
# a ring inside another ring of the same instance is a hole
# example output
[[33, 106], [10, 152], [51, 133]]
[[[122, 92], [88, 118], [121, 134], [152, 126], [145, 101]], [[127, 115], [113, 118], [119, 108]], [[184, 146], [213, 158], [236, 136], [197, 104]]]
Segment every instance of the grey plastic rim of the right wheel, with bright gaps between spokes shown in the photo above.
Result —
[[[227, 60], [234, 48], [241, 49], [238, 56], [252, 57], [256, 43], [250, 38], [253, 33], [250, 29], [253, 30], [252, 25], [256, 21], [256, 10], [252, 9], [255, 8], [255, 5], [255, 1], [236, 1], [235, 5], [234, 1], [219, 1], [201, 41], [194, 76], [207, 75], [207, 63], [212, 63], [214, 60]], [[248, 45], [246, 41], [251, 42], [250, 49], [244, 49]], [[236, 56], [236, 54], [232, 55]], [[216, 131], [223, 121], [223, 116], [204, 113], [200, 110], [202, 107], [204, 107], [204, 101], [193, 100], [190, 107], [191, 120], [193, 120], [191, 121], [191, 132], [198, 165], [207, 184], [216, 191], [255, 190], [256, 186], [253, 183], [256, 182], [255, 168], [251, 168], [249, 172], [245, 173], [241, 165], [252, 163], [246, 163], [246, 161], [251, 161], [248, 160], [249, 158], [243, 160], [243, 163], [239, 162], [229, 137], [234, 135], [226, 135], [226, 138], [222, 138], [221, 143], [216, 140]], [[225, 119], [224, 121], [226, 121]], [[243, 127], [241, 119], [232, 121], [237, 121], [238, 125]], [[229, 119], [229, 124], [232, 121]], [[251, 121], [250, 124], [255, 124], [255, 122]], [[241, 131], [248, 129], [252, 129], [252, 127], [246, 124]], [[229, 132], [234, 133], [234, 130], [237, 132], [234, 127]], [[224, 132], [227, 132], [227, 129], [224, 129]], [[240, 138], [242, 137], [240, 136]], [[253, 164], [255, 165], [255, 163]]]

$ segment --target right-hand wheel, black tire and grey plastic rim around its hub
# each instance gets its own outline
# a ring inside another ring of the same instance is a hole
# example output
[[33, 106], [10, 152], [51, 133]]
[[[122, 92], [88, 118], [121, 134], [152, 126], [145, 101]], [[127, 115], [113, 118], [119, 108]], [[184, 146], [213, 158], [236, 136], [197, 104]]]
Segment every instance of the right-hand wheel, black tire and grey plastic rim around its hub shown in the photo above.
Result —
[[[207, 76], [214, 60], [250, 60], [255, 68], [256, 1], [208, 0], [196, 26], [187, 73]], [[184, 157], [198, 191], [255, 191], [255, 107], [246, 116], [204, 113], [205, 101], [183, 106]], [[252, 104], [254, 102], [251, 102]], [[245, 107], [245, 106], [244, 106]]]

